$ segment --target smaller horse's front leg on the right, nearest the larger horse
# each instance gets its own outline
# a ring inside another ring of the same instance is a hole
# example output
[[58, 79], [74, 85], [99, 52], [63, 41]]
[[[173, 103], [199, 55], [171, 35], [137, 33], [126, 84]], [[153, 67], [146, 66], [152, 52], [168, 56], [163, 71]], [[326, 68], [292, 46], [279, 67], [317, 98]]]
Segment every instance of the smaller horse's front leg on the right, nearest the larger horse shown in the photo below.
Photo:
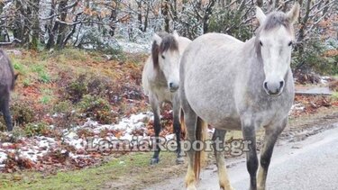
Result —
[[177, 154], [178, 154], [178, 158], [176, 158], [176, 163], [177, 164], [183, 164], [184, 163], [184, 158], [182, 157], [182, 153], [181, 153], [181, 124], [179, 121], [179, 113], [180, 113], [180, 104], [179, 104], [179, 99], [178, 99], [178, 95], [176, 95], [176, 97], [173, 100], [173, 104], [172, 104], [172, 109], [173, 109], [173, 119], [174, 119], [174, 132], [176, 134], [176, 142], [178, 145], [178, 149], [177, 149]]

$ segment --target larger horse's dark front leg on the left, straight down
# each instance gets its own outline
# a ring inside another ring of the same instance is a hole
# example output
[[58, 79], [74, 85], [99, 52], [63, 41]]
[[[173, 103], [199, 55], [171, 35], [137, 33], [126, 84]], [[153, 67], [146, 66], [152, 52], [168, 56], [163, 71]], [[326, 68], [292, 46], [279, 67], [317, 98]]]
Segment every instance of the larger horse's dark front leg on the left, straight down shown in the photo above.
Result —
[[242, 121], [243, 140], [248, 144], [246, 152], [246, 167], [250, 174], [250, 189], [257, 190], [258, 158], [256, 151], [256, 131], [254, 122]]

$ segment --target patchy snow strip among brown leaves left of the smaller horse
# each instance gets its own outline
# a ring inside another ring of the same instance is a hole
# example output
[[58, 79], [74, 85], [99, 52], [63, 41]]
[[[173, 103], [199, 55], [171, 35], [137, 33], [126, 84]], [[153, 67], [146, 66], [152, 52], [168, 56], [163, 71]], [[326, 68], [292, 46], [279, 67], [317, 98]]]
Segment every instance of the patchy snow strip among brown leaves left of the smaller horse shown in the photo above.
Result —
[[[133, 132], [140, 131], [142, 136], [140, 138], [149, 140], [150, 137], [146, 137], [146, 122], [153, 120], [153, 114], [148, 113], [139, 113], [132, 114], [130, 117], [123, 118], [121, 122], [117, 124], [99, 124], [98, 122], [87, 119], [81, 126], [77, 126], [72, 129], [66, 129], [62, 131], [61, 142], [59, 140], [49, 138], [49, 137], [32, 137], [25, 138], [22, 137], [14, 146], [10, 142], [0, 142], [0, 168], [5, 167], [5, 161], [8, 158], [9, 153], [15, 153], [15, 158], [27, 158], [32, 162], [36, 163], [40, 158], [47, 155], [50, 150], [58, 149], [60, 144], [69, 145], [76, 149], [75, 152], [69, 152], [69, 158], [87, 158], [88, 155], [84, 155], [83, 152], [86, 152], [87, 149], [87, 139], [80, 137], [78, 131], [87, 130], [95, 134], [93, 144], [99, 144], [101, 140], [133, 140]], [[102, 131], [108, 131], [105, 134], [105, 138], [99, 136]], [[118, 131], [118, 136], [111, 131]], [[5, 136], [10, 136], [10, 133], [3, 132]], [[166, 139], [172, 139], [170, 135]], [[19, 144], [19, 145], [18, 145]], [[66, 151], [63, 149], [62, 151]], [[77, 152], [79, 152], [77, 154]]]

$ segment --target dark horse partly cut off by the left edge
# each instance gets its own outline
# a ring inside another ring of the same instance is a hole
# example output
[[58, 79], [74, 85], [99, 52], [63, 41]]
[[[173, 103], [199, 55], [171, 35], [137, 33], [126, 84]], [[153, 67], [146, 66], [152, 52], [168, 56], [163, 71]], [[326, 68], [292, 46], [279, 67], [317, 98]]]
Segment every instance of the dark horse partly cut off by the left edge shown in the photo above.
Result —
[[17, 75], [14, 75], [12, 63], [4, 50], [0, 50], [0, 76], [0, 111], [4, 115], [7, 130], [12, 131], [13, 123], [9, 111], [9, 100]]

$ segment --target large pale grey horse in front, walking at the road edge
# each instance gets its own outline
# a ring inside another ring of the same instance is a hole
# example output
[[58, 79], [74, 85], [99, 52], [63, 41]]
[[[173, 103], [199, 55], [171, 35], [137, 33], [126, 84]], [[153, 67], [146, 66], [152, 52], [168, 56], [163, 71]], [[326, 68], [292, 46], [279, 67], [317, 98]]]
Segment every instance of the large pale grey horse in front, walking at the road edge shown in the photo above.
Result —
[[[229, 35], [208, 33], [190, 43], [181, 59], [178, 91], [187, 140], [201, 140], [203, 122], [216, 128], [213, 140], [222, 143], [221, 149], [215, 149], [215, 158], [223, 189], [232, 189], [222, 149], [226, 130], [242, 130], [250, 149], [246, 152], [250, 189], [265, 189], [272, 150], [288, 123], [294, 100], [290, 60], [293, 23], [298, 14], [298, 4], [287, 14], [265, 15], [257, 7], [260, 28], [251, 40], [242, 42]], [[260, 127], [265, 128], [265, 139], [257, 183], [255, 131]], [[187, 189], [196, 189], [200, 155], [195, 149], [187, 151]]]

